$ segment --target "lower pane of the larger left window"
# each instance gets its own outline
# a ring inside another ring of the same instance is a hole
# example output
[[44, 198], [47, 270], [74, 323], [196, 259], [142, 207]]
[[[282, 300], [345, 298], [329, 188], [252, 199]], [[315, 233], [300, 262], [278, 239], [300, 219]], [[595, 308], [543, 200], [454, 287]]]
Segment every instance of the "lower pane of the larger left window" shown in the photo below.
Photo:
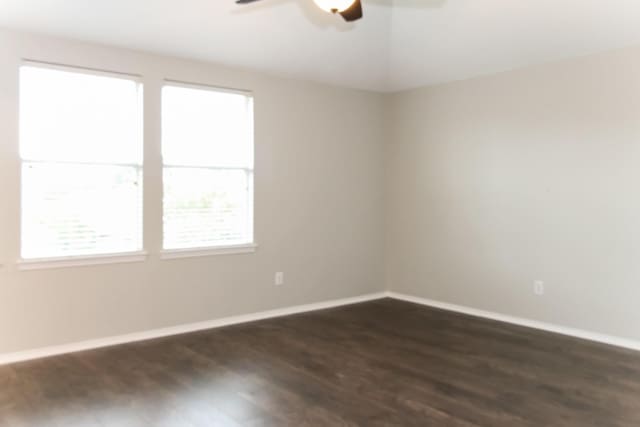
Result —
[[22, 257], [142, 249], [137, 167], [23, 163]]

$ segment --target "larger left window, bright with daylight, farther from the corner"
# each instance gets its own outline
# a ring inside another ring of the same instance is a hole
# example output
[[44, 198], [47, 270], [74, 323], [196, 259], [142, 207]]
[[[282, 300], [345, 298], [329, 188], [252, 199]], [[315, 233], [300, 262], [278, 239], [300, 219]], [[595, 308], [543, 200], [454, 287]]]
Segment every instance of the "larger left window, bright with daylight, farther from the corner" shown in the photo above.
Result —
[[141, 94], [124, 76], [20, 68], [23, 259], [142, 250]]

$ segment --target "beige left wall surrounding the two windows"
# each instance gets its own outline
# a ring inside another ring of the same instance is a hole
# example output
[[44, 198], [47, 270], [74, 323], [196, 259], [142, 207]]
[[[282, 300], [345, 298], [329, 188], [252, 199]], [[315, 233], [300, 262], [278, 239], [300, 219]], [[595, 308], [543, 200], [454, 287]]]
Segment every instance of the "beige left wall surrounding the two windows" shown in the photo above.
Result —
[[[145, 263], [17, 271], [21, 58], [141, 74]], [[255, 254], [160, 260], [164, 78], [250, 89]], [[0, 354], [383, 289], [382, 95], [0, 32]], [[286, 284], [275, 287], [274, 273]]]

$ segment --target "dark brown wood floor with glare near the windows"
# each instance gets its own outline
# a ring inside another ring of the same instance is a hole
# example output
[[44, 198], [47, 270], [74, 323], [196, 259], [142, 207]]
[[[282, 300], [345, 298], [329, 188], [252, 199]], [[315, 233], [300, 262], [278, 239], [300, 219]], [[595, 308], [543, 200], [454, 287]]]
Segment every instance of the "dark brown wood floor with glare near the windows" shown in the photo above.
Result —
[[640, 426], [640, 353], [380, 300], [0, 367], [0, 426]]

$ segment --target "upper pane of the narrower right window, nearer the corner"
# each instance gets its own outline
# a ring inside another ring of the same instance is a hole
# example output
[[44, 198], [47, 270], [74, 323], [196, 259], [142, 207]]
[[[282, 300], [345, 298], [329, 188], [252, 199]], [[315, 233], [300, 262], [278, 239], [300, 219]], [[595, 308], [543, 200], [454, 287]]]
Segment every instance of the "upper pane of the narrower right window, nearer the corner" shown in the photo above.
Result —
[[165, 86], [164, 163], [251, 168], [252, 120], [252, 101], [246, 95]]

